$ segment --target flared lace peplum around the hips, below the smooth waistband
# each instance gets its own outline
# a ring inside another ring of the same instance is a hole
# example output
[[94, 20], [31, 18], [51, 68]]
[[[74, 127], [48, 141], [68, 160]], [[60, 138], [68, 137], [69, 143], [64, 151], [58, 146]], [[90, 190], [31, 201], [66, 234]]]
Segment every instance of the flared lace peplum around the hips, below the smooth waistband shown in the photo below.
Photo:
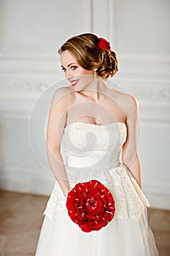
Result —
[[[134, 219], [137, 215], [144, 211], [144, 207], [150, 206], [149, 201], [144, 196], [142, 189], [131, 175], [128, 168], [121, 164], [113, 167], [107, 172], [96, 178], [105, 187], [109, 189], [115, 200], [115, 218], [117, 219]], [[71, 182], [71, 187], [76, 182]], [[50, 219], [60, 219], [61, 221], [69, 221], [66, 197], [56, 181], [53, 192], [47, 202], [44, 214]]]

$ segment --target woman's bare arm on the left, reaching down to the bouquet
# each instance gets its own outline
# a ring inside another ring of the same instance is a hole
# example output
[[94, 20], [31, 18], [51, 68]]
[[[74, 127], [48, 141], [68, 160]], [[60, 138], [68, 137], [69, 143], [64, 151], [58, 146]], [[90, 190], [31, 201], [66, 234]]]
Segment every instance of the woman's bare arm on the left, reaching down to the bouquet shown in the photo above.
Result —
[[61, 156], [61, 140], [64, 127], [66, 126], [68, 91], [60, 88], [53, 94], [50, 106], [50, 113], [47, 124], [47, 157], [56, 180], [61, 187], [63, 195], [66, 197], [69, 190], [68, 178]]

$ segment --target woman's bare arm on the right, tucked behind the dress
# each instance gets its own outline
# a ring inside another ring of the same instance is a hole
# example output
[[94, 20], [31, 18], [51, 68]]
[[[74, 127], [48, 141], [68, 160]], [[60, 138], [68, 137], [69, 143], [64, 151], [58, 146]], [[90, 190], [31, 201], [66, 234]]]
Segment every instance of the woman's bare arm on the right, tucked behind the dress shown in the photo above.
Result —
[[127, 139], [123, 144], [122, 161], [128, 167], [139, 186], [142, 189], [142, 167], [137, 148], [137, 132], [139, 121], [139, 103], [138, 100], [128, 94], [127, 99]]

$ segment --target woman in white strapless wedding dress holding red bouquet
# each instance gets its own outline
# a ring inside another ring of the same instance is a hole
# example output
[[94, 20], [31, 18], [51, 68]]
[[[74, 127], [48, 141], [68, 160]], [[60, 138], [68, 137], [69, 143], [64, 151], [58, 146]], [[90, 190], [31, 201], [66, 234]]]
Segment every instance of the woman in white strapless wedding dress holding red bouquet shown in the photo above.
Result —
[[[109, 42], [94, 34], [72, 37], [58, 52], [71, 86], [57, 89], [51, 102], [47, 156], [56, 182], [44, 212], [36, 256], [156, 256], [137, 150], [138, 101], [104, 83], [118, 70], [117, 56]], [[66, 165], [61, 156], [62, 138]], [[88, 194], [83, 192], [81, 202], [86, 203], [80, 206], [82, 194], [75, 186], [81, 191], [91, 181], [97, 185], [90, 187], [91, 197], [86, 201]], [[102, 204], [106, 195], [94, 195], [98, 184], [104, 186], [98, 193], [109, 191], [112, 197], [112, 209], [107, 211], [107, 217], [112, 217], [106, 221], [103, 215], [103, 226], [87, 214], [87, 209], [97, 211], [98, 205], [98, 214], [101, 209], [103, 214], [109, 205]], [[72, 195], [76, 195], [74, 200]], [[77, 213], [72, 214], [70, 207]], [[83, 212], [75, 221], [79, 210], [85, 211], [86, 219]]]

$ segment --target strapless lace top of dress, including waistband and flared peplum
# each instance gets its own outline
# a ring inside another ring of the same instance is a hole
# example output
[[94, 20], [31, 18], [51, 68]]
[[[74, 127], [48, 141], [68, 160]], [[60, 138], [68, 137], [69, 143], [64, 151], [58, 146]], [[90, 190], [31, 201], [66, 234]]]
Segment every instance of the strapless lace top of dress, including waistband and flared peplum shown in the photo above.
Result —
[[[64, 129], [64, 165], [69, 184], [97, 179], [112, 193], [116, 211], [115, 218], [134, 218], [150, 206], [142, 189], [128, 168], [120, 162], [120, 151], [127, 137], [124, 123], [96, 125], [85, 122], [69, 124]], [[44, 214], [70, 221], [66, 210], [66, 197], [55, 182], [53, 192]]]

